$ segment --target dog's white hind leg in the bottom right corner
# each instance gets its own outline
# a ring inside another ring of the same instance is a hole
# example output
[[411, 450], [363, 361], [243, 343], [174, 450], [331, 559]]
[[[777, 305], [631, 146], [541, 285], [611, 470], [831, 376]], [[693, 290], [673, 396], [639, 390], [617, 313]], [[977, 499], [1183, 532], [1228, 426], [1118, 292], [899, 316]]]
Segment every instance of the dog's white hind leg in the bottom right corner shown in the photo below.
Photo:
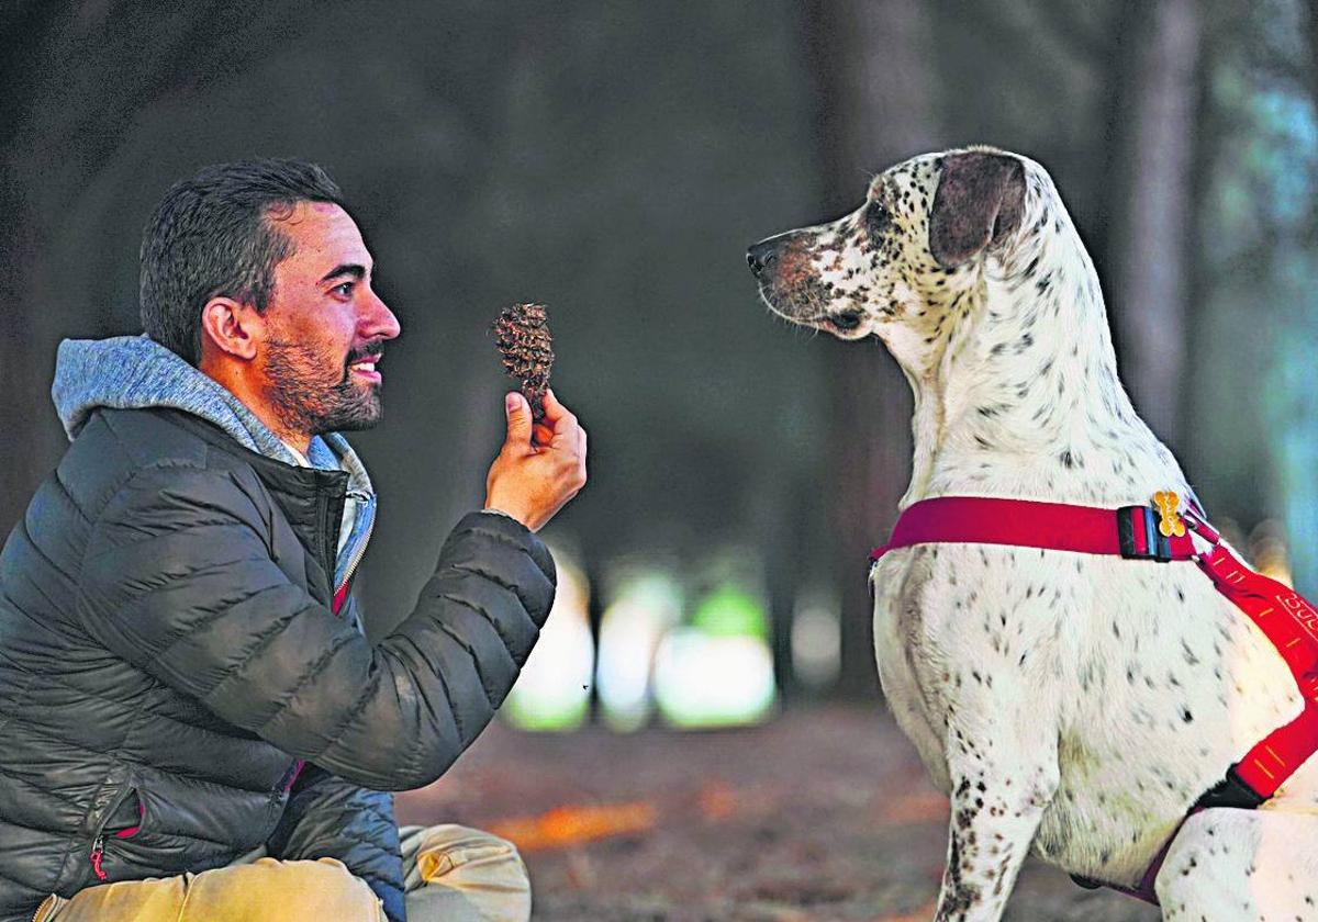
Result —
[[1168, 850], [1155, 890], [1168, 921], [1318, 919], [1318, 817], [1198, 813]]

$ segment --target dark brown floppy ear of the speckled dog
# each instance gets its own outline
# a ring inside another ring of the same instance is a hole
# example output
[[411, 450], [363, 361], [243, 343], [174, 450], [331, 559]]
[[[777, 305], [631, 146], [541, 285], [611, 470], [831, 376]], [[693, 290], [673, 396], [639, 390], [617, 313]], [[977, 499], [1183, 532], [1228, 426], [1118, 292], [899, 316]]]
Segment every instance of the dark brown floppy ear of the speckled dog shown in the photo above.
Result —
[[942, 158], [929, 213], [929, 252], [944, 269], [965, 263], [1020, 227], [1025, 171], [1015, 157], [986, 151]]

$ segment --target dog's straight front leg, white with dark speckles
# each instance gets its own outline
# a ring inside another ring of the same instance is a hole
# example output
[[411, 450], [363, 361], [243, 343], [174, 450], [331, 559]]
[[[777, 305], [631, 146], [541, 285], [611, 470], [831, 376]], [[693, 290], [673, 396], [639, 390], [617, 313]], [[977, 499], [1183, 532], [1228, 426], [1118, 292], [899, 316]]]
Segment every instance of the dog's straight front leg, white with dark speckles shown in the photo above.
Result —
[[1057, 790], [1056, 724], [1044, 714], [1014, 714], [1006, 697], [979, 702], [974, 720], [961, 719], [965, 711], [949, 720], [952, 822], [940, 922], [1002, 917]]

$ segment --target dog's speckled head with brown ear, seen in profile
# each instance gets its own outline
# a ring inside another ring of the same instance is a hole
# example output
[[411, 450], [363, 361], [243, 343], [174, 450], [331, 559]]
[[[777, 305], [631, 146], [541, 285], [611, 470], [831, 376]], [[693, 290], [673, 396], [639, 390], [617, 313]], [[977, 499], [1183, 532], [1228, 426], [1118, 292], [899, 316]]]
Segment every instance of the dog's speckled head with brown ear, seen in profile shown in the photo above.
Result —
[[850, 215], [751, 246], [760, 295], [784, 319], [844, 340], [878, 335], [895, 354], [899, 341], [933, 344], [969, 310], [957, 295], [975, 269], [1020, 229], [1028, 165], [986, 148], [899, 163]]

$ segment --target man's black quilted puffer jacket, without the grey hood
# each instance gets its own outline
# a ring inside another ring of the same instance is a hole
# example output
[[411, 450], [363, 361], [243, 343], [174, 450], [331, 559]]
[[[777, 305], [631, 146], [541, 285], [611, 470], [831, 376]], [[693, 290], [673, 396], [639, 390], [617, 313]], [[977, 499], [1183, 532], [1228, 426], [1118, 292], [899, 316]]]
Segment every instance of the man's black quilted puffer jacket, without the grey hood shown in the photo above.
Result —
[[94, 851], [116, 881], [262, 843], [339, 857], [401, 917], [376, 790], [434, 781], [485, 727], [554, 561], [472, 514], [372, 645], [330, 609], [344, 489], [185, 412], [92, 416], [0, 553], [0, 919], [100, 882]]

